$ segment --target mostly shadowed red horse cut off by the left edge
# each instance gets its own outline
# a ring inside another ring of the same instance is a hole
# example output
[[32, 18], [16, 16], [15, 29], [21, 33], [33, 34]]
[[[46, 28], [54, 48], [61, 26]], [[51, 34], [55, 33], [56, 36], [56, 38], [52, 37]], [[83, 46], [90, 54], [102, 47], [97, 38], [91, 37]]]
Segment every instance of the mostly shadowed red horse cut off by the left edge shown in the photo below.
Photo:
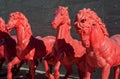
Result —
[[0, 18], [0, 67], [4, 60], [9, 63], [16, 56], [16, 41], [6, 32], [5, 22]]

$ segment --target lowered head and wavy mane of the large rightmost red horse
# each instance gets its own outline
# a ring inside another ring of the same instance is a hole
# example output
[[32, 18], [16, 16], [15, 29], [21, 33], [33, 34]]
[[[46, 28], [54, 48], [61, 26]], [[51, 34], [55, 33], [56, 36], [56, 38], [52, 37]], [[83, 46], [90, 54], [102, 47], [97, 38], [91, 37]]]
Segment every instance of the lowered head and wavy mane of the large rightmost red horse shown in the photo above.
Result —
[[98, 40], [103, 39], [103, 36], [108, 36], [108, 32], [104, 23], [98, 15], [91, 9], [83, 9], [78, 12], [74, 22], [76, 31], [82, 38], [82, 43], [85, 47], [89, 48], [91, 43], [96, 43]]

